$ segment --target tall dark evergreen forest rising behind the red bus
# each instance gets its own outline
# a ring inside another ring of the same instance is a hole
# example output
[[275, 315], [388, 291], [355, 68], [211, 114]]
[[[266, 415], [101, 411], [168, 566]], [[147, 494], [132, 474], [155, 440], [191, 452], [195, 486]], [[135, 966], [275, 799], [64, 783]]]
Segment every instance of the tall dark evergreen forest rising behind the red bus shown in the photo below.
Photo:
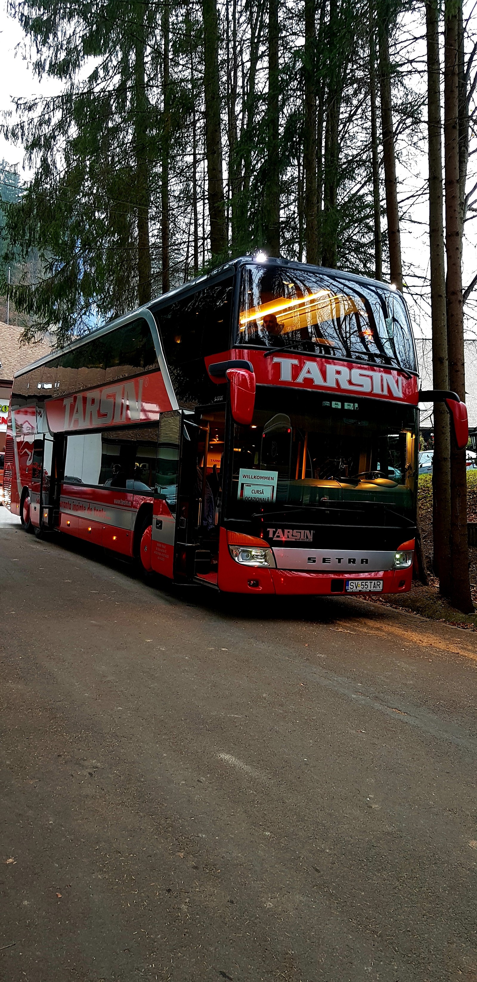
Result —
[[[265, 248], [391, 279], [414, 321], [432, 322], [435, 387], [464, 399], [476, 7], [10, 0], [32, 79], [51, 84], [2, 128], [29, 172], [0, 176], [0, 292], [10, 270], [25, 339], [53, 329], [62, 345]], [[433, 563], [470, 610], [465, 459], [440, 409]]]

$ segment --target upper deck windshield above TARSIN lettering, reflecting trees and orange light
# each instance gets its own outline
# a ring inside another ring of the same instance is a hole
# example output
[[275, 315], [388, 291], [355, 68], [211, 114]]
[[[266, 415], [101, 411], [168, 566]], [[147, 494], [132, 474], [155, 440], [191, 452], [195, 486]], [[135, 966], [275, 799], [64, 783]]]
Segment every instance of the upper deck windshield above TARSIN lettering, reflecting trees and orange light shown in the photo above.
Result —
[[242, 268], [237, 343], [416, 370], [397, 292], [306, 268]]

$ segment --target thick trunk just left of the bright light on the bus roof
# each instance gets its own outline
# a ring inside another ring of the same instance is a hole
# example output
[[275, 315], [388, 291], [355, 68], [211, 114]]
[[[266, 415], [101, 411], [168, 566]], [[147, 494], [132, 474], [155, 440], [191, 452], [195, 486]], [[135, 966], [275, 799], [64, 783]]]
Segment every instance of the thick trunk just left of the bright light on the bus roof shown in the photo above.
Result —
[[204, 29], [205, 145], [212, 259], [227, 253], [219, 84], [219, 22], [216, 0], [202, 0]]

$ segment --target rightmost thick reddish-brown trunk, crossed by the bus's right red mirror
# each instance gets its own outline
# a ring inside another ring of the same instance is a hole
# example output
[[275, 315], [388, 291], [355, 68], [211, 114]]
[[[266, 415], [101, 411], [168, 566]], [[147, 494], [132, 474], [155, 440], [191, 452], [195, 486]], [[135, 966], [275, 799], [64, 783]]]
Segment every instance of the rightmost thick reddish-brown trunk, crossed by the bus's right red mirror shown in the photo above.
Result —
[[[447, 308], [450, 389], [465, 397], [460, 247], [458, 132], [458, 12], [446, 2], [444, 69], [444, 147], [446, 175]], [[464, 614], [474, 610], [470, 595], [467, 546], [467, 480], [465, 450], [450, 441], [450, 603]]]

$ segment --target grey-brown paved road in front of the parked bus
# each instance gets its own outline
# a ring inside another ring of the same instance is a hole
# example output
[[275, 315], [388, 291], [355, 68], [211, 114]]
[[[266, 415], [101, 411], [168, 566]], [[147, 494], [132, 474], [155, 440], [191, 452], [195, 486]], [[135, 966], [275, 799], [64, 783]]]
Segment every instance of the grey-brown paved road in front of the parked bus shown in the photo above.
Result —
[[0, 557], [2, 980], [476, 982], [475, 634]]

